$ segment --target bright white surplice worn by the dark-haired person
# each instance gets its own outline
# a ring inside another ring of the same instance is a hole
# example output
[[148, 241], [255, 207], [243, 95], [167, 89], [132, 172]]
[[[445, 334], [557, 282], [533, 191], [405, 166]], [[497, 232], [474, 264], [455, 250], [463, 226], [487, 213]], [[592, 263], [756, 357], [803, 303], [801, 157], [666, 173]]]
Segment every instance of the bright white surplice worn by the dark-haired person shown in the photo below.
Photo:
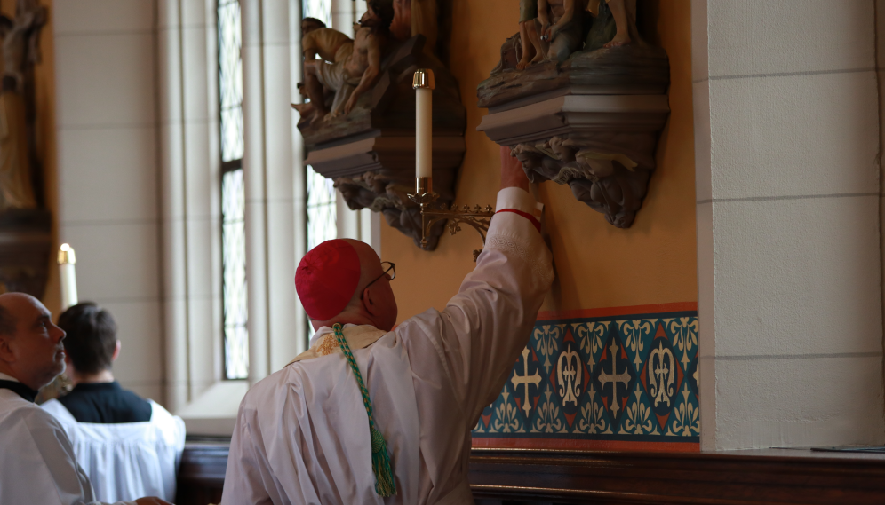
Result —
[[100, 501], [159, 496], [175, 501], [185, 425], [154, 401], [148, 422], [101, 424], [77, 422], [59, 400], [43, 404], [74, 446], [76, 461], [89, 476]]

